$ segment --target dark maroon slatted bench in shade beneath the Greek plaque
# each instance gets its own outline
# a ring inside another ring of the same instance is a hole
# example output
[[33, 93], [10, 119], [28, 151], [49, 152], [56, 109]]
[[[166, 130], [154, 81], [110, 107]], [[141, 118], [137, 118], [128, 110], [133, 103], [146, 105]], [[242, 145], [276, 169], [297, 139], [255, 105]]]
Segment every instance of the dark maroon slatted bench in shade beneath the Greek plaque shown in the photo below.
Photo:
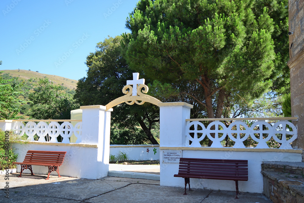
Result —
[[[239, 193], [238, 181], [248, 180], [248, 160], [227, 160], [227, 159], [194, 159], [180, 158], [178, 174], [174, 177], [185, 178], [186, 186], [190, 188], [190, 178], [234, 180], [237, 195]], [[238, 199], [236, 195], [236, 199]]]

